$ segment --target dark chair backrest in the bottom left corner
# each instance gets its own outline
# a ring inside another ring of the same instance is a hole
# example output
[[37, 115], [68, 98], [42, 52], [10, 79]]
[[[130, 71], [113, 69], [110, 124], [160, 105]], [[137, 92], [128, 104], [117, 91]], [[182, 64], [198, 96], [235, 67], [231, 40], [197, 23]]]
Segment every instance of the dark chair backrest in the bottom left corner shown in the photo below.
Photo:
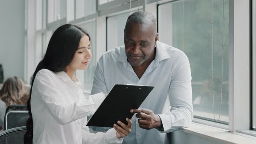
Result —
[[0, 132], [0, 144], [23, 144], [26, 127], [11, 128]]

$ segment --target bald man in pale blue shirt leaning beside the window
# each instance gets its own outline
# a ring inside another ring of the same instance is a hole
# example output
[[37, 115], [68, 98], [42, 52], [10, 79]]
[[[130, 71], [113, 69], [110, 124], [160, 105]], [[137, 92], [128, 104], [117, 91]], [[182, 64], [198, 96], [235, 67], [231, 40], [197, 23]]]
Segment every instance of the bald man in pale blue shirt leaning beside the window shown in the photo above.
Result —
[[116, 83], [154, 86], [140, 109], [131, 110], [138, 114], [131, 119], [131, 133], [123, 143], [170, 144], [167, 132], [189, 126], [193, 118], [188, 58], [158, 41], [156, 19], [147, 12], [128, 17], [124, 38], [125, 46], [99, 59], [91, 94], [108, 93]]

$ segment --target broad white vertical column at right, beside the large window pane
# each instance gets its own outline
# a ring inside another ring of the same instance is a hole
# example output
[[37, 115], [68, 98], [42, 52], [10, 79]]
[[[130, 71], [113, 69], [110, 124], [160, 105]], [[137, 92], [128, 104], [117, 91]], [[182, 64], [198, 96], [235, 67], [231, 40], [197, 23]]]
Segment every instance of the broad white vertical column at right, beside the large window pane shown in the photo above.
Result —
[[[229, 130], [249, 130], [249, 0], [230, 0]], [[233, 20], [232, 20], [233, 19]], [[233, 35], [232, 35], [233, 33]]]

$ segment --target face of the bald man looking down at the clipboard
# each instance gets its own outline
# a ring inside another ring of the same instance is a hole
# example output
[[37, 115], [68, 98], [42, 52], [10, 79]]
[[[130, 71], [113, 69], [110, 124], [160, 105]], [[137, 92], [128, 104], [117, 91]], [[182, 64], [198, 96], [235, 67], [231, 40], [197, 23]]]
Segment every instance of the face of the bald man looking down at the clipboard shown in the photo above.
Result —
[[154, 23], [128, 23], [124, 30], [125, 53], [132, 66], [140, 66], [154, 58], [158, 35]]

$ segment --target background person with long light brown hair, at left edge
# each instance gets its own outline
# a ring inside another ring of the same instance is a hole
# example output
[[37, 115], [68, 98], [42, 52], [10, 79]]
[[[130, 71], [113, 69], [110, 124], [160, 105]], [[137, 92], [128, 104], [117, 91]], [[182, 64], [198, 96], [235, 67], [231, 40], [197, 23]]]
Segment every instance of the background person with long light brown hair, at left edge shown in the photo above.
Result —
[[2, 128], [6, 108], [9, 105], [26, 105], [28, 98], [28, 90], [19, 77], [10, 77], [3, 83], [3, 87], [0, 90], [0, 125]]

